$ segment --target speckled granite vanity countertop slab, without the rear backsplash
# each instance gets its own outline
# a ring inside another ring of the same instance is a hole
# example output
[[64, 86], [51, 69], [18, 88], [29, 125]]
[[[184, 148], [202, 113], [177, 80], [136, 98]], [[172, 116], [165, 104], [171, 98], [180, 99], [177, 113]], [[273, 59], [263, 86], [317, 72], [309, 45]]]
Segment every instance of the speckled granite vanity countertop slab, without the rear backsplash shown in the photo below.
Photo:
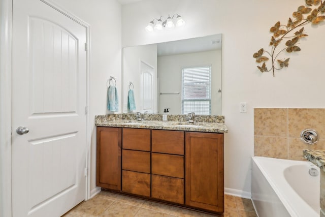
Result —
[[[108, 115], [95, 117], [95, 125], [99, 127], [123, 127], [123, 128], [142, 128], [142, 129], [159, 129], [159, 130], [178, 130], [178, 131], [195, 131], [195, 132], [210, 132], [210, 133], [227, 133], [228, 128], [223, 121], [213, 122], [194, 122], [141, 120], [129, 118], [112, 118]], [[210, 119], [209, 119], [210, 120]]]

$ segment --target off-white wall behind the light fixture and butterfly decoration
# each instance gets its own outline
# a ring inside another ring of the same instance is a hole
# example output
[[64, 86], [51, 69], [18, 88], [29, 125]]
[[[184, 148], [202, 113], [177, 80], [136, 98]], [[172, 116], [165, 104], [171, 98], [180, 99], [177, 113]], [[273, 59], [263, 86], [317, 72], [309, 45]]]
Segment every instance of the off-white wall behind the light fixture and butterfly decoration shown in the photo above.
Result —
[[[224, 184], [239, 194], [251, 191], [253, 108], [325, 107], [323, 24], [305, 26], [309, 37], [299, 42], [301, 51], [282, 55], [290, 57], [289, 67], [275, 77], [259, 72], [252, 57], [262, 47], [270, 49], [270, 27], [277, 21], [286, 24], [300, 5], [305, 1], [144, 0], [122, 7], [123, 46], [222, 33], [222, 114], [229, 128], [224, 138]], [[162, 33], [144, 30], [153, 18], [168, 13], [179, 13], [186, 25]], [[239, 113], [240, 102], [247, 102], [247, 113]]]

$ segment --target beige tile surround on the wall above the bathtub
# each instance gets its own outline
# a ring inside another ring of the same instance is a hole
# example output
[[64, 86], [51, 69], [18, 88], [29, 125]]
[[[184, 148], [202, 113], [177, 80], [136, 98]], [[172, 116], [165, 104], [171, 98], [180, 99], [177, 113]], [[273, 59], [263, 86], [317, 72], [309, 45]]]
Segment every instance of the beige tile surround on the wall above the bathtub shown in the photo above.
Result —
[[[325, 150], [324, 122], [325, 109], [254, 108], [254, 156], [303, 161], [303, 149]], [[300, 139], [306, 128], [319, 133], [316, 144]]]

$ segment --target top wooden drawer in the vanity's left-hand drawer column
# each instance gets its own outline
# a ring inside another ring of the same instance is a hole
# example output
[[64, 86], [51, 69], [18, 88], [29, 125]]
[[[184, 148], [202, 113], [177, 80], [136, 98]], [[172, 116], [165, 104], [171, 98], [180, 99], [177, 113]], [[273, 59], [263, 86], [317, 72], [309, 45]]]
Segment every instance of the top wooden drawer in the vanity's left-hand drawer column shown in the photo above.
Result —
[[150, 129], [123, 128], [122, 146], [124, 149], [150, 151]]

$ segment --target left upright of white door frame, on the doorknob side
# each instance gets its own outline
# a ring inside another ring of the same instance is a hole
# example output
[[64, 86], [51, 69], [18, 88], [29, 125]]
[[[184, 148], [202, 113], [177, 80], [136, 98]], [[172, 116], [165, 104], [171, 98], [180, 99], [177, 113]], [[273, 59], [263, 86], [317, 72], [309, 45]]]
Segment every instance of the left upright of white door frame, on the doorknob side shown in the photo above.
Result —
[[0, 26], [0, 216], [11, 216], [12, 0], [2, 0]]

